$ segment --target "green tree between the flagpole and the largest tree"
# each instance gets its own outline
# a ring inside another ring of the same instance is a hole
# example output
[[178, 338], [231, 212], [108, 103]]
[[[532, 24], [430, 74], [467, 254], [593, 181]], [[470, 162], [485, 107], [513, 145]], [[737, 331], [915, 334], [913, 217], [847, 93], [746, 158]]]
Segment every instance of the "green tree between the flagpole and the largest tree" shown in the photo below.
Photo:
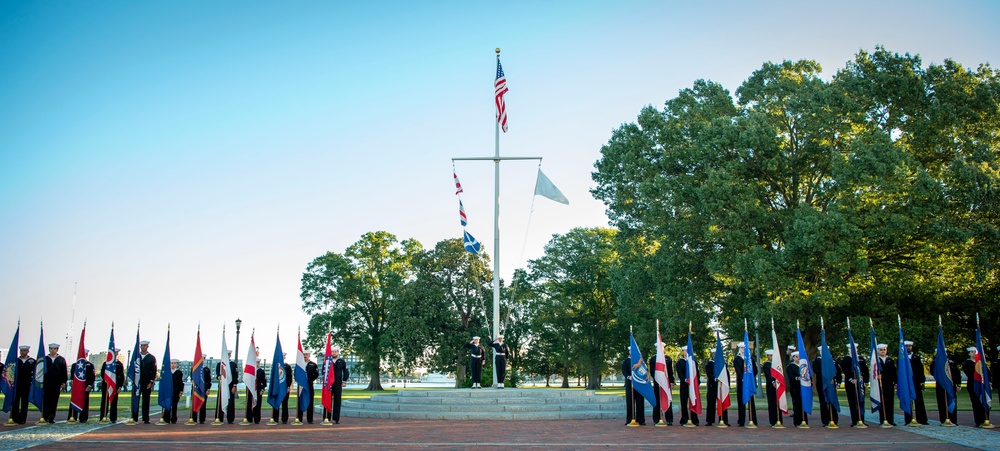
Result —
[[617, 259], [614, 236], [613, 229], [575, 228], [554, 235], [545, 255], [528, 264], [541, 295], [538, 333], [561, 357], [563, 387], [578, 362], [587, 375], [587, 388], [600, 388], [601, 375], [618, 354], [621, 331], [610, 277]]

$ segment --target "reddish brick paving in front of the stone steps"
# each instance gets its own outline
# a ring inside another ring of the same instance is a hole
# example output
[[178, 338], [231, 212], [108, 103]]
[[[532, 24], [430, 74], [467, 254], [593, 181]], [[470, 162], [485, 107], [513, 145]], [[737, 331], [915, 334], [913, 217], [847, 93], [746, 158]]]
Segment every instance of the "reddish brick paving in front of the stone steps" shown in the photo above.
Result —
[[[66, 425], [45, 426], [57, 429]], [[2, 440], [2, 436], [0, 436]], [[435, 420], [342, 420], [341, 424], [291, 426], [223, 425], [168, 426], [114, 425], [39, 444], [33, 449], [115, 449], [128, 446], [144, 450], [222, 450], [233, 446], [248, 449], [301, 448], [375, 449], [607, 449], [611, 447], [671, 447], [699, 449], [843, 450], [845, 446], [867, 450], [969, 449], [950, 442], [879, 428], [869, 429], [719, 429], [715, 427], [658, 428], [625, 427], [623, 420], [561, 421], [435, 421]]]

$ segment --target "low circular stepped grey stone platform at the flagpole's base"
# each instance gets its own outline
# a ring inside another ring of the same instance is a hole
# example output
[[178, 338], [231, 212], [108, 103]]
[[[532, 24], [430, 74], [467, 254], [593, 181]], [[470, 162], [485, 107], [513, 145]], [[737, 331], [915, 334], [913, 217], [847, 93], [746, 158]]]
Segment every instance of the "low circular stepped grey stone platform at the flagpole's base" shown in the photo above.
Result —
[[623, 418], [625, 399], [593, 390], [400, 390], [344, 400], [341, 415], [401, 420], [591, 420]]

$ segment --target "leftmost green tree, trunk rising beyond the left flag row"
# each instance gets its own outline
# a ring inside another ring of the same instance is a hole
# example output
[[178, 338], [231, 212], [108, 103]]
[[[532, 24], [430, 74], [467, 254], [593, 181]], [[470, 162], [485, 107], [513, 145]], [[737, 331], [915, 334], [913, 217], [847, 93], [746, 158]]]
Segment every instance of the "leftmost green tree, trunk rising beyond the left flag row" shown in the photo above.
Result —
[[343, 254], [327, 252], [302, 274], [302, 306], [312, 315], [310, 337], [321, 337], [329, 325], [335, 337], [361, 358], [371, 377], [368, 390], [382, 390], [382, 368], [403, 343], [390, 334], [405, 312], [404, 286], [413, 277], [411, 259], [421, 251], [415, 240], [398, 242], [388, 232], [369, 232]]

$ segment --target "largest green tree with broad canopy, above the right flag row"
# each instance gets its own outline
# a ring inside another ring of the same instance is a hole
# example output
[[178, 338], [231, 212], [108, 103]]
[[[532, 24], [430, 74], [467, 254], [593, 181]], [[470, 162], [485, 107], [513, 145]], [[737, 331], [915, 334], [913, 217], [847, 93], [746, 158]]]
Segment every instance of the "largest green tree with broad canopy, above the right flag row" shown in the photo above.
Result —
[[956, 306], [997, 313], [996, 71], [881, 47], [820, 71], [765, 63], [735, 99], [699, 80], [613, 132], [592, 192], [619, 248], [649, 250], [623, 256], [623, 301], [697, 310], [731, 336], [773, 316], [790, 339], [798, 319], [810, 349], [820, 315], [889, 333], [899, 313], [931, 343], [938, 313], [955, 328], [975, 312]]

